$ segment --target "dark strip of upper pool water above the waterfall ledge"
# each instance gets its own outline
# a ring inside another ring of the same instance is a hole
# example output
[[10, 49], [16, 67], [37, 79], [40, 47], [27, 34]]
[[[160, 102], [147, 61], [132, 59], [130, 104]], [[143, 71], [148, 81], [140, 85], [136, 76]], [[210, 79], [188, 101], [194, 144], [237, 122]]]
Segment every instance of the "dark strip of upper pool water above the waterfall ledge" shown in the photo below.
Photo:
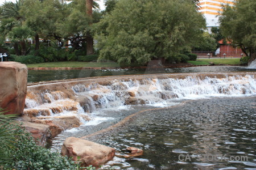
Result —
[[201, 72], [233, 72], [256, 71], [244, 66], [201, 66], [174, 69], [100, 69], [100, 70], [28, 70], [28, 83], [50, 80], [65, 80], [93, 76], [156, 74], [156, 73], [201, 73]]

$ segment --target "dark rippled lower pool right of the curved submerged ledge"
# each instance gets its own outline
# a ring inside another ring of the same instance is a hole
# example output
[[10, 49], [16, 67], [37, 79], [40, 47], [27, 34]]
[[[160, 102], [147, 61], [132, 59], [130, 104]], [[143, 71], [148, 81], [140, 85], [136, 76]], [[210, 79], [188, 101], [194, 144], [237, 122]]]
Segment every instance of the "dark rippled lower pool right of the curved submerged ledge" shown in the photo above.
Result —
[[[127, 146], [144, 151], [137, 158], [115, 157], [108, 165], [117, 169], [256, 168], [255, 107], [255, 97], [194, 100], [182, 107], [144, 112], [117, 131], [89, 140], [117, 151]], [[179, 160], [180, 154], [188, 154], [190, 160]], [[205, 154], [223, 159], [212, 161]], [[248, 160], [229, 160], [230, 156]]]

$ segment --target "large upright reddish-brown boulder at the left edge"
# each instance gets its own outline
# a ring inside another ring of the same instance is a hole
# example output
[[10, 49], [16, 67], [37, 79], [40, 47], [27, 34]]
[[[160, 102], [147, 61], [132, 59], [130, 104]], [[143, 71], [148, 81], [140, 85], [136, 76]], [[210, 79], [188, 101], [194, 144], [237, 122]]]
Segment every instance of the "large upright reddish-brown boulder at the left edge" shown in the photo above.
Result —
[[0, 107], [5, 114], [23, 114], [27, 93], [27, 66], [0, 62]]

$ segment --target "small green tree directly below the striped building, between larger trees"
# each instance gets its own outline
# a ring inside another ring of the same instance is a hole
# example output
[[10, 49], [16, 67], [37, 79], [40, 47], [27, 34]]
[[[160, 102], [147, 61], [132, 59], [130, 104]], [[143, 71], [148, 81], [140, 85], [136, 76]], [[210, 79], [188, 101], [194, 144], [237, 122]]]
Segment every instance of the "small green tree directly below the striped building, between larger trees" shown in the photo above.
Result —
[[193, 46], [194, 51], [214, 51], [216, 49], [217, 42], [208, 32], [201, 33], [200, 40]]

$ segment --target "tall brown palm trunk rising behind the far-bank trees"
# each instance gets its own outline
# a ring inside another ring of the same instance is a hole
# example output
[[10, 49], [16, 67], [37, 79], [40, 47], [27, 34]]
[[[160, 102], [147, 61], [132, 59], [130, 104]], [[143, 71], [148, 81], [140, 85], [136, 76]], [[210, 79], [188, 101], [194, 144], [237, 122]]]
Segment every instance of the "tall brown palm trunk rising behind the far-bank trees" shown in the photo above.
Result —
[[[86, 0], [86, 14], [93, 17], [93, 0]], [[92, 23], [90, 23], [91, 25]], [[90, 32], [86, 35], [86, 55], [93, 54], [93, 37]]]

